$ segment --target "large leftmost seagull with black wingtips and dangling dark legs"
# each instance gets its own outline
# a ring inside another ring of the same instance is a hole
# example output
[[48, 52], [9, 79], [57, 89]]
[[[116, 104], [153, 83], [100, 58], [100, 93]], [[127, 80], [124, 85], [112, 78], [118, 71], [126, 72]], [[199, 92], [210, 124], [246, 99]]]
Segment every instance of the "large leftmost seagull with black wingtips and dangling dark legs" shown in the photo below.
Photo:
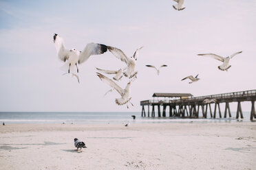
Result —
[[61, 38], [61, 36], [58, 36], [58, 34], [54, 34], [54, 44], [56, 47], [58, 58], [63, 62], [67, 61], [67, 73], [70, 73], [70, 70], [73, 70], [74, 66], [76, 66], [76, 72], [78, 73], [78, 64], [82, 64], [83, 62], [88, 60], [89, 56], [98, 55], [107, 51], [106, 45], [93, 42], [87, 44], [83, 51], [78, 51], [75, 48], [67, 50], [65, 48], [63, 38]]

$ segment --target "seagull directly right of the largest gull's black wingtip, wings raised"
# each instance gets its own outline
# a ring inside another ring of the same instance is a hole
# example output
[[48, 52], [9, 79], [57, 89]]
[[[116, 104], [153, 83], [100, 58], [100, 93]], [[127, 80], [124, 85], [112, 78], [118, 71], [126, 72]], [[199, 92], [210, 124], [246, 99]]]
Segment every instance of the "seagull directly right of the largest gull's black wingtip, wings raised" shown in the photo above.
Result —
[[138, 71], [135, 71], [135, 65], [136, 65], [136, 60], [137, 60], [137, 56], [138, 56], [138, 51], [140, 49], [142, 49], [142, 47], [138, 48], [135, 53], [134, 56], [128, 58], [127, 56], [125, 56], [125, 53], [122, 52], [122, 50], [116, 48], [116, 47], [110, 47], [107, 46], [107, 49], [109, 49], [109, 51], [118, 59], [120, 59], [122, 62], [125, 62], [127, 64], [127, 70], [125, 71], [124, 75], [125, 77], [128, 77], [129, 79], [132, 77], [136, 77], [136, 74], [138, 73]]

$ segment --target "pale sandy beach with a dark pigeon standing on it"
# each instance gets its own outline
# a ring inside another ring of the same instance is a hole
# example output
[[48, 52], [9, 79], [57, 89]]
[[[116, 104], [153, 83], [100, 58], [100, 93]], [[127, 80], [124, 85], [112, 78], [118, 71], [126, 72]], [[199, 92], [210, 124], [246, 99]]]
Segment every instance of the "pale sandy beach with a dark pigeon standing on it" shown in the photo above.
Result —
[[256, 169], [256, 123], [1, 125], [0, 169]]

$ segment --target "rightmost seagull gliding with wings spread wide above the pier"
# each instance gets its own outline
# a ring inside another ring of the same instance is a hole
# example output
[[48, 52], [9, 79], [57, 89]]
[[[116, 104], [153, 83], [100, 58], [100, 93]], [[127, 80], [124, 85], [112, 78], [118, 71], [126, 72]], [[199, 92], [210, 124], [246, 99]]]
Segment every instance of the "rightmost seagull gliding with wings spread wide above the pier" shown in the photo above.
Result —
[[231, 56], [228, 56], [226, 58], [224, 58], [222, 56], [217, 56], [214, 53], [201, 53], [201, 54], [198, 54], [198, 56], [206, 56], [206, 57], [210, 57], [210, 58], [215, 58], [216, 60], [223, 62], [223, 64], [218, 66], [217, 68], [222, 71], [228, 71], [228, 69], [231, 68], [231, 65], [228, 65], [229, 60], [231, 60], [231, 58], [233, 58], [238, 53], [242, 53], [242, 51], [233, 53]]

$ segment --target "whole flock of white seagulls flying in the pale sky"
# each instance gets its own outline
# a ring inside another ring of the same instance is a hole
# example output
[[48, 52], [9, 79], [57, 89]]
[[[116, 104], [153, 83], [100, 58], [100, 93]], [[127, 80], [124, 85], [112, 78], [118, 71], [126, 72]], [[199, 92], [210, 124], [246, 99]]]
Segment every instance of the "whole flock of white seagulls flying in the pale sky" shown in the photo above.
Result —
[[[173, 8], [175, 10], [180, 11], [185, 9], [185, 7], [183, 6], [184, 0], [173, 0], [173, 1], [177, 2], [176, 5], [173, 5]], [[68, 50], [65, 48], [63, 38], [61, 38], [61, 36], [58, 36], [58, 34], [54, 34], [54, 45], [56, 47], [58, 58], [63, 62], [65, 62], [65, 64], [63, 65], [63, 69], [65, 73], [63, 75], [70, 74], [72, 75], [72, 77], [76, 77], [76, 79], [78, 80], [78, 83], [80, 83], [80, 80], [77, 74], [79, 73], [78, 64], [82, 64], [83, 62], [86, 62], [90, 56], [100, 55], [109, 51], [110, 53], [113, 54], [113, 56], [118, 58], [118, 60], [120, 60], [121, 62], [125, 62], [126, 64], [125, 68], [120, 68], [118, 70], [105, 70], [105, 69], [96, 68], [96, 70], [98, 71], [96, 72], [96, 75], [98, 75], [98, 77], [102, 82], [105, 82], [105, 84], [110, 86], [111, 89], [108, 90], [107, 93], [113, 90], [116, 90], [116, 92], [119, 93], [120, 98], [115, 99], [116, 104], [120, 106], [126, 104], [127, 108], [129, 108], [128, 104], [131, 104], [131, 106], [134, 106], [131, 103], [131, 95], [130, 95], [131, 82], [134, 82], [134, 80], [136, 80], [137, 78], [136, 75], [138, 71], [136, 71], [135, 69], [136, 60], [138, 57], [138, 52], [140, 51], [140, 49], [142, 49], [142, 47], [136, 49], [136, 51], [134, 52], [134, 55], [130, 57], [125, 55], [125, 53], [121, 49], [103, 45], [103, 44], [93, 43], [93, 42], [88, 43], [83, 49], [83, 51], [78, 51], [75, 48]], [[231, 65], [229, 65], [231, 58], [233, 58], [238, 53], [242, 53], [242, 51], [233, 53], [231, 56], [228, 56], [226, 58], [222, 56], [218, 56], [214, 53], [202, 53], [202, 54], [198, 54], [198, 56], [206, 56], [209, 58], [214, 58], [215, 60], [219, 60], [223, 62], [223, 64], [218, 66], [217, 68], [220, 69], [221, 71], [228, 71], [228, 69], [231, 67]], [[162, 64], [159, 68], [153, 65], [146, 65], [146, 66], [156, 69], [156, 73], [157, 75], [159, 75], [160, 69], [162, 67], [166, 67], [167, 65]], [[114, 75], [114, 77], [112, 77], [113, 80], [107, 77], [106, 75]], [[121, 88], [117, 84], [117, 82], [120, 81], [124, 76], [128, 78], [128, 82], [125, 88]], [[189, 84], [193, 82], [198, 82], [198, 80], [200, 80], [200, 78], [198, 78], [198, 75], [196, 75], [195, 77], [193, 77], [193, 75], [189, 75], [187, 77], [184, 77], [182, 80], [186, 80], [186, 79], [191, 80]], [[107, 93], [105, 93], [105, 95], [107, 95]]]

